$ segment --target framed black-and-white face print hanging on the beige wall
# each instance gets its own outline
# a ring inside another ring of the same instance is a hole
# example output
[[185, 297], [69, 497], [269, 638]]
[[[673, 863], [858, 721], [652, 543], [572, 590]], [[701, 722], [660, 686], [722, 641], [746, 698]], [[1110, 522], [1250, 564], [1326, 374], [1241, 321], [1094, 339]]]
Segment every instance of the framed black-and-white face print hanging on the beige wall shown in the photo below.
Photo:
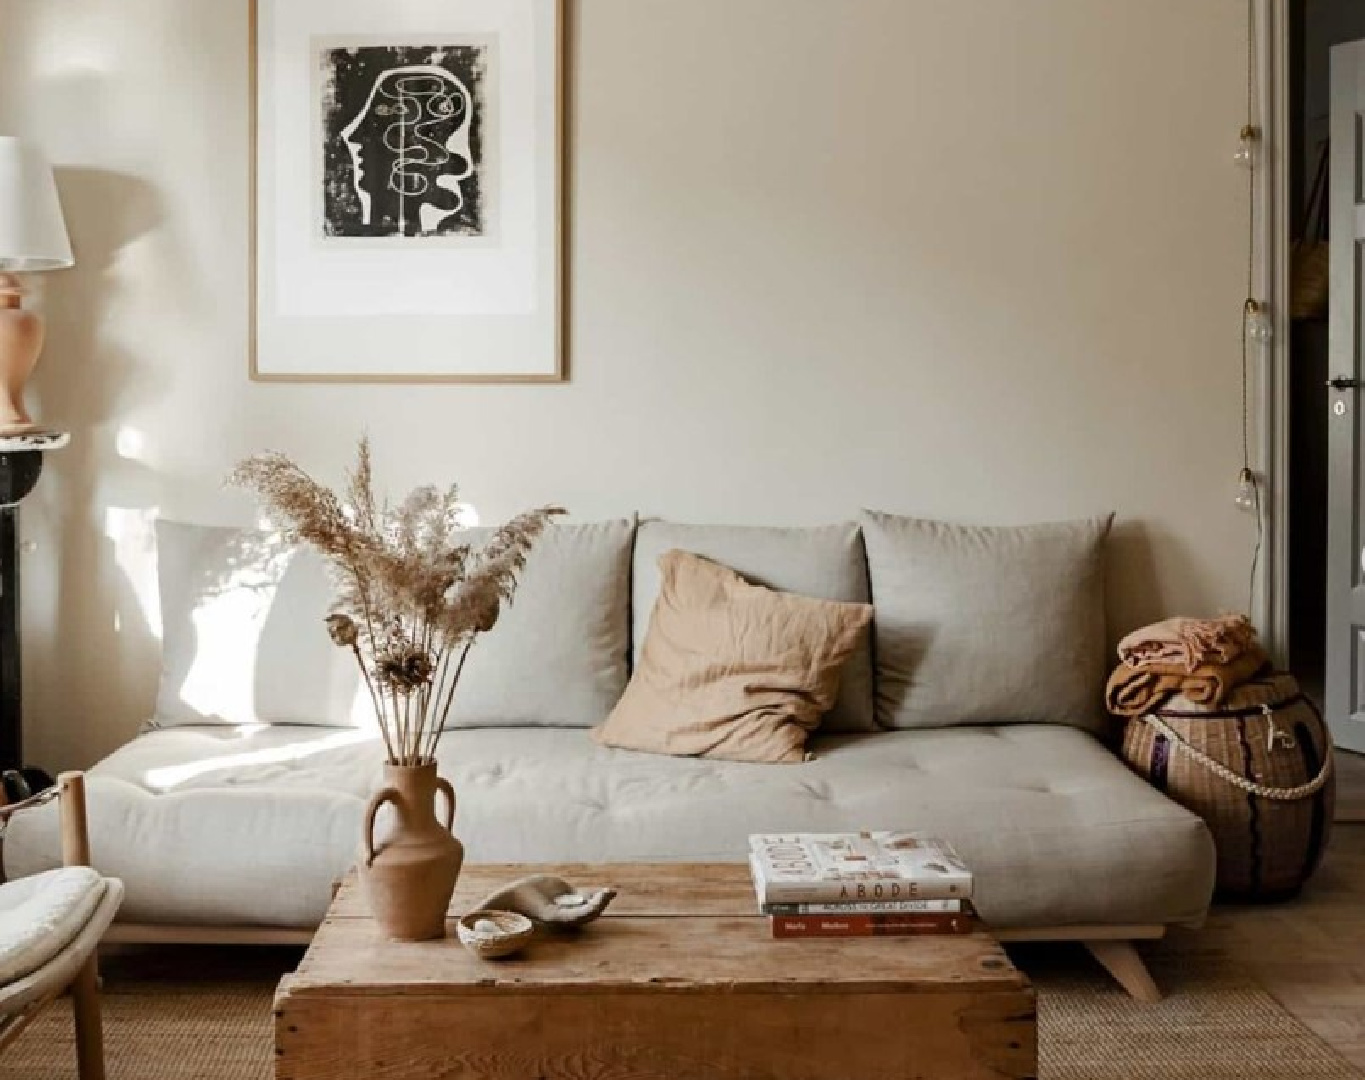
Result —
[[562, 0], [250, 3], [251, 377], [562, 381]]

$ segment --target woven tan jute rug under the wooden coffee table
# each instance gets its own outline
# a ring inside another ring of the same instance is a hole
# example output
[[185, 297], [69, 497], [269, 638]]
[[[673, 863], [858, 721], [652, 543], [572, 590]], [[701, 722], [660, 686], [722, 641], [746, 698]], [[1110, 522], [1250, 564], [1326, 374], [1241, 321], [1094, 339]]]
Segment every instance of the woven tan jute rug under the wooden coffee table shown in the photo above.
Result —
[[[105, 965], [109, 1080], [269, 1080], [288, 950], [158, 950]], [[1020, 953], [1039, 987], [1044, 1080], [1361, 1080], [1218, 954], [1149, 953], [1168, 997], [1138, 1005], [1080, 949]], [[67, 1002], [0, 1058], [0, 1080], [75, 1080]], [[678, 1077], [678, 1080], [685, 1080]]]

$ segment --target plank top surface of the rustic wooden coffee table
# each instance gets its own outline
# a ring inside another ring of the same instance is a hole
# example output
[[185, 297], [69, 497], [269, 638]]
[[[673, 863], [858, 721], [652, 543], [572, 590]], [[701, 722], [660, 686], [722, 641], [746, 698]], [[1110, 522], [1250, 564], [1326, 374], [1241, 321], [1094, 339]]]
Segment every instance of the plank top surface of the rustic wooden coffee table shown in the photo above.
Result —
[[[613, 886], [606, 915], [577, 933], [541, 931], [524, 953], [479, 960], [453, 919], [526, 874], [581, 889]], [[444, 941], [400, 943], [369, 916], [355, 874], [281, 994], [470, 995], [616, 993], [1028, 991], [988, 933], [774, 941], [743, 864], [467, 866]]]

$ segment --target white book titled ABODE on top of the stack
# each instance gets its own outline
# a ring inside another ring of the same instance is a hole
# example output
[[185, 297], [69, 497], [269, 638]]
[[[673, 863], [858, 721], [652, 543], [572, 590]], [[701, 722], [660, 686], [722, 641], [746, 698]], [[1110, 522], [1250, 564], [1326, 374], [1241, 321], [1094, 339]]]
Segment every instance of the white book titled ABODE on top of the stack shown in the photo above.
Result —
[[760, 905], [968, 900], [972, 871], [923, 833], [760, 833], [749, 837]]

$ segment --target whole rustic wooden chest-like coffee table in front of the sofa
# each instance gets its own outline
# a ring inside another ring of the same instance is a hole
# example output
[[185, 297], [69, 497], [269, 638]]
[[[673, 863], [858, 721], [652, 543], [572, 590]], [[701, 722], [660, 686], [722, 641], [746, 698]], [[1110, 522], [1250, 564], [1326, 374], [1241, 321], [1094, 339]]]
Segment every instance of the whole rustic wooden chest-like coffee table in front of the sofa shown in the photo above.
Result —
[[278, 1080], [1033, 1077], [1033, 989], [988, 934], [773, 941], [743, 866], [471, 866], [614, 885], [603, 919], [482, 961], [401, 945], [355, 877], [276, 994]]

